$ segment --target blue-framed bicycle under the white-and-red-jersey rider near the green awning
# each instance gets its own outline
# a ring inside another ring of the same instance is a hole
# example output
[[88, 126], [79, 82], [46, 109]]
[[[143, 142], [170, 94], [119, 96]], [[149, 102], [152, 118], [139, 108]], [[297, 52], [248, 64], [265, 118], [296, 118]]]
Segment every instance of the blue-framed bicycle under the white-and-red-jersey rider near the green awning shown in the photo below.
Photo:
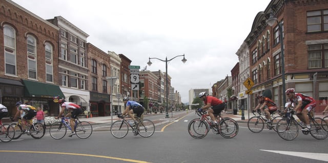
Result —
[[[67, 133], [67, 128], [72, 131], [72, 128], [69, 124], [70, 117], [61, 116], [60, 121], [57, 121], [54, 124], [51, 124], [49, 129], [49, 134], [54, 139], [61, 139]], [[80, 121], [78, 117], [75, 120], [74, 130], [76, 136], [81, 139], [86, 139], [92, 134], [92, 126], [88, 121]]]

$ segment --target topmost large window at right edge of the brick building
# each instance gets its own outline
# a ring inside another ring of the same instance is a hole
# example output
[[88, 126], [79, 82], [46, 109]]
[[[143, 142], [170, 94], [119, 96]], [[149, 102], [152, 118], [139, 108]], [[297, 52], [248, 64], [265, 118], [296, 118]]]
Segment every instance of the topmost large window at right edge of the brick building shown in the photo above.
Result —
[[328, 31], [328, 10], [308, 11], [306, 16], [308, 32]]

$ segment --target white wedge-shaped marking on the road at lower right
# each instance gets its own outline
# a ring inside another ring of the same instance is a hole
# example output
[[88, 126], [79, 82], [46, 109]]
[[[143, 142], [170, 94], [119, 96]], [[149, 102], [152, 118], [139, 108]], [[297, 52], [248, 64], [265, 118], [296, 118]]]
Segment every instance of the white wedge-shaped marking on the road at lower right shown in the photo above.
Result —
[[272, 151], [272, 150], [261, 150], [279, 154], [285, 154], [290, 156], [304, 157], [310, 159], [317, 159], [322, 161], [328, 161], [328, 153], [309, 153], [309, 152], [292, 152], [292, 151]]

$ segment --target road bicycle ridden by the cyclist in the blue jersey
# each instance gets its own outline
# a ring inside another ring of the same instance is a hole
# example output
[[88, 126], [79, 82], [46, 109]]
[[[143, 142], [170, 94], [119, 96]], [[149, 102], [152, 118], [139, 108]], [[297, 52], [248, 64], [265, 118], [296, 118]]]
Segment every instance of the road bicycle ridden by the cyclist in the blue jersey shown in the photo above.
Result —
[[153, 121], [149, 119], [140, 119], [139, 117], [135, 117], [137, 120], [137, 124], [131, 126], [128, 121], [125, 119], [126, 116], [121, 116], [121, 114], [117, 114], [118, 118], [122, 120], [114, 121], [111, 125], [111, 133], [116, 138], [123, 138], [127, 136], [129, 132], [129, 128], [132, 129], [134, 135], [140, 135], [142, 137], [150, 137], [155, 132], [155, 125]]

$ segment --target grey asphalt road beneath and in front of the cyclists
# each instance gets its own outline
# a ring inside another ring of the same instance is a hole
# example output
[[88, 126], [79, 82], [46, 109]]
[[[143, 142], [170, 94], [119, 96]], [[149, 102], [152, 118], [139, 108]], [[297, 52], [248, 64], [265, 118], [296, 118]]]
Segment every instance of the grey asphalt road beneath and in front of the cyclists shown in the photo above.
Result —
[[268, 163], [328, 160], [326, 139], [316, 140], [311, 135], [300, 133], [295, 140], [286, 141], [272, 130], [254, 134], [243, 123], [239, 123], [239, 133], [231, 139], [212, 132], [202, 139], [194, 139], [187, 127], [196, 117], [190, 113], [170, 124], [156, 126], [156, 132], [149, 138], [129, 133], [118, 139], [109, 131], [93, 132], [88, 139], [65, 136], [55, 140], [48, 131], [41, 139], [23, 135], [18, 140], [0, 142], [1, 162]]

